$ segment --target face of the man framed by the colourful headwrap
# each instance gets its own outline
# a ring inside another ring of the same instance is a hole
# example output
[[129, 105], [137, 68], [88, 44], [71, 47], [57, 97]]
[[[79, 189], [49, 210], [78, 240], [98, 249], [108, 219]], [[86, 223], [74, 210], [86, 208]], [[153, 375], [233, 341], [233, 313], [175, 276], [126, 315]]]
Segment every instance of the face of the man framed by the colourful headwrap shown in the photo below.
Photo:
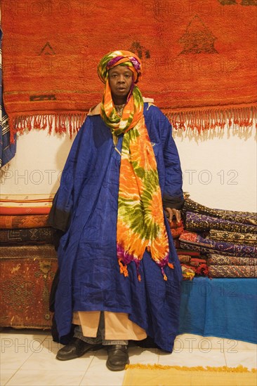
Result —
[[112, 98], [124, 99], [129, 94], [132, 84], [133, 72], [125, 66], [115, 66], [109, 70], [109, 84], [112, 91]]

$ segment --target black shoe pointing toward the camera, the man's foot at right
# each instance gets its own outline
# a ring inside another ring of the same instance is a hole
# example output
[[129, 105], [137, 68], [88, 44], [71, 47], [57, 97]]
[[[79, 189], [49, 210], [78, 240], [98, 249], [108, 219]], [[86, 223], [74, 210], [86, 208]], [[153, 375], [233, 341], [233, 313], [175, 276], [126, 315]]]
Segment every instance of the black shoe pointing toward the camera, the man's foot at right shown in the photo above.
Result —
[[125, 345], [107, 346], [108, 359], [107, 368], [112, 371], [124, 370], [126, 364], [129, 364], [128, 347]]

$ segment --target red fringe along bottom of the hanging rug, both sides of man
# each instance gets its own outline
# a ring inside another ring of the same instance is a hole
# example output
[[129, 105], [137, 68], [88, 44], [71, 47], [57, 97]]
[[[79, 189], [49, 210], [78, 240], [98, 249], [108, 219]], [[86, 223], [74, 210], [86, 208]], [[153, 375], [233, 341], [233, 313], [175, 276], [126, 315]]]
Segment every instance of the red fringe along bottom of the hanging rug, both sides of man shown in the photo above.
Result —
[[[161, 108], [162, 109], [162, 108]], [[206, 130], [223, 129], [237, 126], [247, 130], [254, 123], [257, 128], [257, 105], [249, 107], [243, 106], [220, 106], [195, 109], [162, 109], [166, 117], [171, 122], [174, 129], [185, 131], [190, 129], [197, 130], [199, 133]], [[9, 126], [11, 132], [11, 142], [14, 141], [15, 133], [24, 133], [25, 130], [31, 131], [32, 128], [48, 128], [48, 133], [70, 133], [72, 135], [79, 131], [79, 128], [86, 119], [87, 112], [44, 112], [41, 114], [32, 114], [24, 112], [23, 114], [11, 114], [9, 116]]]

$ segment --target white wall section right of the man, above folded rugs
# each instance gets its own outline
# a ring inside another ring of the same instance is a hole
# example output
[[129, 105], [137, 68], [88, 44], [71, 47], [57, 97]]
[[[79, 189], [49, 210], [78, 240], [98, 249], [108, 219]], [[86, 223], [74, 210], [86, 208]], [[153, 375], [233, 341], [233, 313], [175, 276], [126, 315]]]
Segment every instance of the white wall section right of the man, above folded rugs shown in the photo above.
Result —
[[184, 192], [200, 204], [232, 211], [257, 211], [256, 128], [174, 133]]

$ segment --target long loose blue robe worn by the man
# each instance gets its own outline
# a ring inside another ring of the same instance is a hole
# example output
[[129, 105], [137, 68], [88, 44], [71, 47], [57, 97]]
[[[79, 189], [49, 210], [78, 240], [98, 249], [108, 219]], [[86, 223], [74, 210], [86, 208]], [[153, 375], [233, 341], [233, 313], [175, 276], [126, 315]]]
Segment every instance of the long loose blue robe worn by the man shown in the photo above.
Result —
[[[162, 194], [183, 200], [182, 175], [171, 125], [153, 105], [144, 106], [145, 124], [157, 159]], [[74, 140], [51, 211], [51, 225], [66, 231], [58, 248], [60, 281], [55, 320], [61, 336], [70, 332], [73, 311], [126, 312], [163, 350], [171, 352], [179, 324], [182, 274], [169, 235], [170, 262], [161, 269], [145, 251], [140, 263], [119, 272], [116, 251], [117, 199], [122, 135], [114, 148], [100, 115], [88, 116]], [[119, 150], [119, 151], [117, 151]]]

